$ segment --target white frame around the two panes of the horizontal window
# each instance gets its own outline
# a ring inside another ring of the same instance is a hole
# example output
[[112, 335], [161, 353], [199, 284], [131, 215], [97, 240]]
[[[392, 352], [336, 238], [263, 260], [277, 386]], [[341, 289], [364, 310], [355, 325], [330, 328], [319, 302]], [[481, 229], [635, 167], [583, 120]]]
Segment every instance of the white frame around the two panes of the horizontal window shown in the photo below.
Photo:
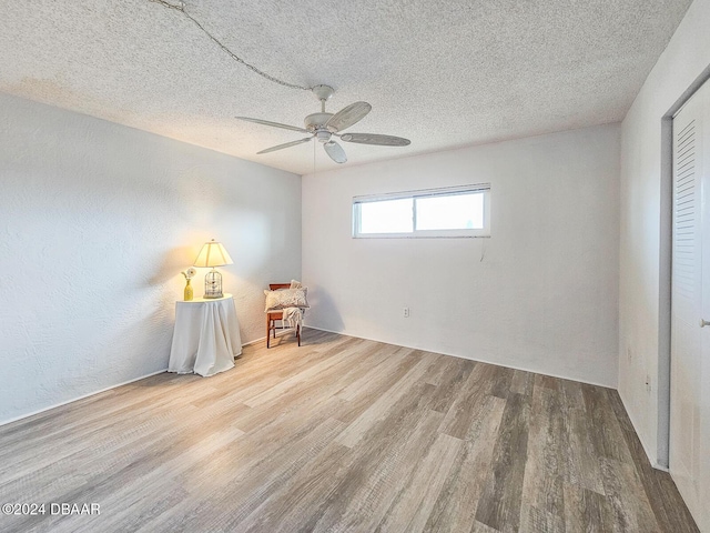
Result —
[[[453, 197], [458, 194], [483, 193], [484, 195], [484, 227], [481, 229], [456, 230], [417, 230], [416, 200], [432, 197]], [[402, 233], [363, 233], [361, 205], [363, 203], [382, 202], [387, 200], [412, 199], [413, 231]], [[392, 192], [383, 194], [367, 194], [353, 197], [353, 239], [486, 239], [490, 238], [490, 183], [470, 185], [444, 187], [437, 189], [420, 189], [415, 191]]]

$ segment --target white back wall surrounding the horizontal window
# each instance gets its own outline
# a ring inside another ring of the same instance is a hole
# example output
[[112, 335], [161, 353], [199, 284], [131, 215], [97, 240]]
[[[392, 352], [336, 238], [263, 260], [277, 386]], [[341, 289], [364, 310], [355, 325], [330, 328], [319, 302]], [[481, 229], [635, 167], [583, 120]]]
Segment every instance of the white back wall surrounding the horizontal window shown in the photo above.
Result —
[[[490, 239], [351, 238], [354, 195], [481, 182]], [[616, 385], [618, 124], [345, 167], [302, 194], [307, 325]]]

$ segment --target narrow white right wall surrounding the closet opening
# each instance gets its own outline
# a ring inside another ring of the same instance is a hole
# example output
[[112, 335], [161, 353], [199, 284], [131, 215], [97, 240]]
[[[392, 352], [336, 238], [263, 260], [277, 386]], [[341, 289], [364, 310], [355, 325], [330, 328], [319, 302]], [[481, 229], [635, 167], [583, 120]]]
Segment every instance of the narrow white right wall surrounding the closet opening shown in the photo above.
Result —
[[670, 187], [661, 119], [710, 64], [708, 28], [710, 0], [696, 0], [622, 123], [619, 394], [658, 465], [668, 455]]

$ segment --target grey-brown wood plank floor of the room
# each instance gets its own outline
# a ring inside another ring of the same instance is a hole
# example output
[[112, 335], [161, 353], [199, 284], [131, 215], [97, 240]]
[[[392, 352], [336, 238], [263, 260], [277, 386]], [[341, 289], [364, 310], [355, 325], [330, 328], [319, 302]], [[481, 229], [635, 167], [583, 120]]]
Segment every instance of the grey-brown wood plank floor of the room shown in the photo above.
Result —
[[275, 344], [0, 428], [0, 503], [47, 505], [0, 531], [698, 531], [612, 390], [315, 330]]

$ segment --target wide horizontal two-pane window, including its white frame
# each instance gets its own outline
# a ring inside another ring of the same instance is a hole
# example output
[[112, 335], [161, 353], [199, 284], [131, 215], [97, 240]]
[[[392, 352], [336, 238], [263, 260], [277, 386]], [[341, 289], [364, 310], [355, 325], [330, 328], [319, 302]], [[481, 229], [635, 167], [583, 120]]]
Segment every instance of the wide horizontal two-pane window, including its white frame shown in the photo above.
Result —
[[490, 237], [490, 184], [355, 197], [353, 237]]

